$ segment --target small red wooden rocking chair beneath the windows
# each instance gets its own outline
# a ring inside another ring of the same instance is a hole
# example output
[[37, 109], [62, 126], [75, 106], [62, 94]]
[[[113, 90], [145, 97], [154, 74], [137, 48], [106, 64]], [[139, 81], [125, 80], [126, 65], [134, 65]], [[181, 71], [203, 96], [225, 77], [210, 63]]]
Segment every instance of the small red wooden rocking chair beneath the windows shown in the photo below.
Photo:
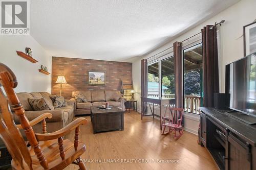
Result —
[[[166, 115], [166, 111], [168, 111], [168, 115]], [[183, 118], [183, 109], [182, 108], [173, 108], [170, 106], [167, 106], [164, 116], [162, 117], [162, 126], [163, 126], [163, 132], [162, 135], [165, 132], [165, 128], [169, 127], [169, 131], [167, 133], [172, 133], [175, 135], [174, 139], [179, 139], [181, 135], [183, 134], [183, 129], [181, 126]], [[166, 122], [167, 119], [167, 122]], [[179, 132], [179, 135], [177, 136], [177, 132]]]

